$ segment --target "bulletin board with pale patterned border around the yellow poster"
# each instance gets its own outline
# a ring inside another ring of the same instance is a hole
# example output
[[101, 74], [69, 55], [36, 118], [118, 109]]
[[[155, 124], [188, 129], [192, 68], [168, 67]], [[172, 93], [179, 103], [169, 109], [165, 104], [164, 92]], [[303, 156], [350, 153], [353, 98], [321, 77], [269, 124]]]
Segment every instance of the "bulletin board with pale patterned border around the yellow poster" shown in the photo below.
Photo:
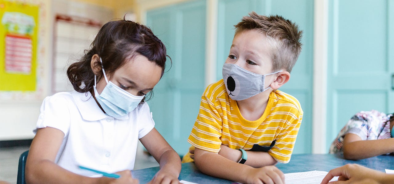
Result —
[[46, 0], [0, 0], [0, 103], [48, 95], [49, 10]]

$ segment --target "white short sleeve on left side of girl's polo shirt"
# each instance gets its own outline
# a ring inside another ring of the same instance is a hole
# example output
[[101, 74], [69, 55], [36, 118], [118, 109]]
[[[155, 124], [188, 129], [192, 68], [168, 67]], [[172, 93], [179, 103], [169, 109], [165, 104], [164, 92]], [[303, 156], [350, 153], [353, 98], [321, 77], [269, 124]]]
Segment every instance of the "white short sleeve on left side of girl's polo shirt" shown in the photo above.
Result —
[[70, 129], [70, 111], [67, 104], [68, 102], [64, 97], [46, 97], [41, 104], [37, 126], [33, 133], [37, 133], [39, 128], [51, 127], [59, 129], [66, 137]]

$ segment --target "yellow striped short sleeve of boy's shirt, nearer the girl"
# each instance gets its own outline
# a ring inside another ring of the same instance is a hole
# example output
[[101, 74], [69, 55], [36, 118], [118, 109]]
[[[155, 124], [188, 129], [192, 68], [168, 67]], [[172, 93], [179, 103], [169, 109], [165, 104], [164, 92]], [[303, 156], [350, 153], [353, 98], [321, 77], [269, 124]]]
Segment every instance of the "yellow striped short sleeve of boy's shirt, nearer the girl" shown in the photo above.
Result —
[[[206, 93], [204, 93], [206, 94]], [[221, 145], [222, 121], [213, 102], [201, 98], [200, 110], [188, 142], [196, 148], [218, 153]]]

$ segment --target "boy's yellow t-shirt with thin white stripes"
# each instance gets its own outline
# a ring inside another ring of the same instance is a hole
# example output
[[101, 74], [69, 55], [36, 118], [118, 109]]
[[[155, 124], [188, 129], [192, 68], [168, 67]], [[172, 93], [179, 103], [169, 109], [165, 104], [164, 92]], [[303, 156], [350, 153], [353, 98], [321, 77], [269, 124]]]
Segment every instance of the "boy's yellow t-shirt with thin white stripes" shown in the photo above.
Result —
[[[282, 163], [290, 161], [303, 111], [298, 100], [276, 90], [269, 94], [263, 115], [255, 121], [242, 117], [237, 102], [229, 98], [223, 79], [208, 86], [188, 142], [196, 148], [219, 152], [224, 144], [232, 149], [250, 150], [254, 144], [275, 146], [268, 153]], [[192, 161], [185, 155], [184, 162]]]

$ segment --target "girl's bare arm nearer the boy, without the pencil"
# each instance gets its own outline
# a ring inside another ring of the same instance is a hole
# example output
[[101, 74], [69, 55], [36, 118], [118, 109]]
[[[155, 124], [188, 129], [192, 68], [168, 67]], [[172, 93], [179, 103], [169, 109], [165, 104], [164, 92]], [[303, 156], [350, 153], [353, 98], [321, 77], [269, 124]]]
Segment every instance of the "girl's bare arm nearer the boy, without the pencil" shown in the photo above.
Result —
[[160, 133], [153, 128], [139, 141], [160, 164], [160, 170], [149, 183], [175, 184], [181, 169], [180, 157], [177, 152], [165, 141]]

